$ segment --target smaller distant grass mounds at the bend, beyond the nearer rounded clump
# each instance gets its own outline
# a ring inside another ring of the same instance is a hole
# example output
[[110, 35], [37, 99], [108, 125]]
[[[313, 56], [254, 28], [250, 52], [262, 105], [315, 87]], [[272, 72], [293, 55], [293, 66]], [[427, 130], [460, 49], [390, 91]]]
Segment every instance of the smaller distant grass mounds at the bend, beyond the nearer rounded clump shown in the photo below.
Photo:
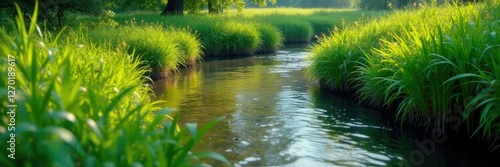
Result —
[[334, 27], [378, 16], [383, 12], [333, 9], [248, 9], [223, 15], [160, 16], [157, 13], [119, 14], [118, 23], [161, 24], [196, 33], [205, 56], [274, 52], [284, 43], [304, 43]]

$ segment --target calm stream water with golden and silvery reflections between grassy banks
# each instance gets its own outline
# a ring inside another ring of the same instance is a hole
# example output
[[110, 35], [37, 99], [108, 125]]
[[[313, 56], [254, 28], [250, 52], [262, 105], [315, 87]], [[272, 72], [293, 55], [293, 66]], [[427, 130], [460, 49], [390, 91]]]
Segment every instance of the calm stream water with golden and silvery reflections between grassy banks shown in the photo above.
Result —
[[384, 111], [320, 90], [305, 80], [305, 48], [206, 61], [155, 81], [155, 93], [182, 122], [227, 116], [197, 149], [235, 166], [477, 166], [500, 158], [401, 131]]

